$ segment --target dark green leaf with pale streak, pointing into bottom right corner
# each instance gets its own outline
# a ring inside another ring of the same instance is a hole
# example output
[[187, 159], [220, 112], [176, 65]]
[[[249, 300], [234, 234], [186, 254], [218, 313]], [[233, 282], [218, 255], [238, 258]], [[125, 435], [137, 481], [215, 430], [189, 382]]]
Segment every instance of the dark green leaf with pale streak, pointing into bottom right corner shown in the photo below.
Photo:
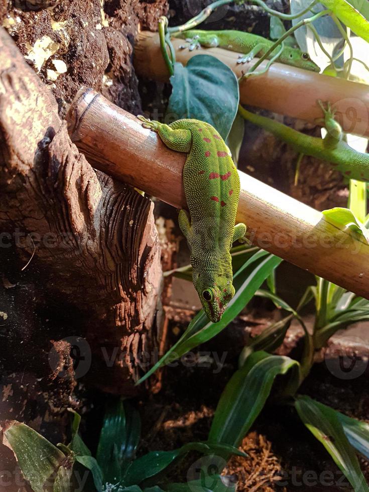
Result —
[[295, 408], [309, 431], [333, 458], [355, 492], [367, 492], [369, 487], [360, 470], [353, 448], [347, 440], [337, 412], [308, 396], [299, 396]]

